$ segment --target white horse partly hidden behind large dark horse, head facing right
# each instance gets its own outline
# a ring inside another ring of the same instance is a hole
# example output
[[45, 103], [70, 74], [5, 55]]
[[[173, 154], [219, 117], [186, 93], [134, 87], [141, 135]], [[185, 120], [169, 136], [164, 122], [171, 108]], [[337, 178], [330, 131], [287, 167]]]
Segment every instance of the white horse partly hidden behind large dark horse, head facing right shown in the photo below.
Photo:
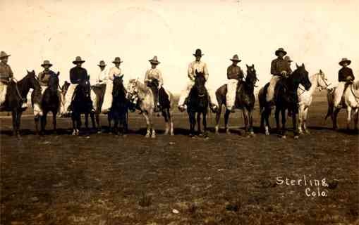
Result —
[[[298, 131], [299, 134], [303, 134], [303, 130], [305, 133], [310, 134], [308, 128], [307, 128], [307, 117], [308, 117], [308, 108], [312, 104], [313, 97], [312, 95], [315, 92], [315, 89], [327, 89], [329, 84], [327, 84], [327, 77], [325, 77], [324, 72], [320, 70], [315, 75], [310, 76], [310, 83], [312, 83], [312, 86], [308, 91], [305, 91], [302, 84], [299, 85], [298, 88], [298, 102], [299, 102], [299, 123], [298, 123]], [[303, 129], [302, 129], [303, 127]]]

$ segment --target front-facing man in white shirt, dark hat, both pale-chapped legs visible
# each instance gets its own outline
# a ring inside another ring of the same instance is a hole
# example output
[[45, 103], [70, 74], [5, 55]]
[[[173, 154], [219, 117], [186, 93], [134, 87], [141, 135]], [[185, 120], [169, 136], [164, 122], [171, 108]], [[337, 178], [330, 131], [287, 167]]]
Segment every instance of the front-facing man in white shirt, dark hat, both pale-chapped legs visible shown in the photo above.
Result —
[[[190, 78], [190, 81], [188, 82], [185, 89], [182, 91], [178, 101], [178, 109], [181, 110], [182, 112], [187, 108], [185, 105], [185, 100], [186, 98], [188, 98], [188, 94], [190, 94], [190, 89], [192, 89], [192, 86], [195, 82], [195, 72], [196, 71], [204, 72], [206, 80], [208, 80], [208, 76], [209, 76], [207, 64], [201, 61], [201, 58], [203, 56], [202, 51], [200, 49], [197, 49], [193, 54], [193, 56], [195, 56], [195, 61], [193, 61], [192, 63], [190, 63], [190, 65], [188, 65], [188, 78]], [[216, 94], [214, 93], [214, 91], [209, 89], [208, 86], [206, 86], [206, 89], [209, 95], [210, 108], [212, 109], [212, 111], [217, 111], [218, 103], [217, 103]]]

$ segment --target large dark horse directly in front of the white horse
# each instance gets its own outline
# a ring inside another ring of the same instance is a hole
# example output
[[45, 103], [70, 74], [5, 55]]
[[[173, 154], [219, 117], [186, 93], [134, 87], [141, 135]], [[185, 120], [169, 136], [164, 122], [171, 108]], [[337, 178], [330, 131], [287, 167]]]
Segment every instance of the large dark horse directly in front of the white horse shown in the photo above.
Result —
[[[274, 95], [274, 105], [276, 107], [276, 129], [283, 139], [286, 139], [286, 110], [291, 110], [293, 120], [294, 139], [298, 139], [299, 132], [297, 130], [298, 105], [296, 103], [296, 92], [299, 84], [304, 86], [308, 91], [312, 84], [310, 83], [308, 72], [305, 70], [305, 65], [296, 65], [296, 70], [287, 78], [279, 80], [276, 84], [276, 91]], [[265, 134], [269, 135], [269, 115], [272, 111], [272, 103], [267, 102], [265, 97], [267, 94], [269, 83], [267, 83], [259, 92], [258, 98], [260, 101], [260, 115], [261, 127], [265, 129]], [[281, 113], [281, 124], [279, 123], [279, 113]], [[265, 127], [264, 127], [265, 124]]]

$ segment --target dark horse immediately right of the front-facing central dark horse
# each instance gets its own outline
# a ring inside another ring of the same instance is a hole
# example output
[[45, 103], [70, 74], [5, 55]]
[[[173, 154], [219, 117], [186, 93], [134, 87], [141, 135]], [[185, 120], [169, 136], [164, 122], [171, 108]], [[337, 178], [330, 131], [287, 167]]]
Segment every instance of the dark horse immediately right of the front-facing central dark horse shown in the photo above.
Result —
[[[255, 66], [247, 66], [247, 77], [245, 77], [245, 81], [239, 81], [238, 87], [236, 91], [236, 102], [235, 108], [243, 110], [243, 117], [245, 122], [245, 131], [249, 131], [251, 135], [254, 134], [253, 132], [253, 117], [252, 117], [252, 110], [255, 105], [255, 94], [254, 88], [255, 83], [258, 81]], [[219, 118], [221, 117], [221, 108], [222, 105], [226, 106], [226, 93], [227, 93], [227, 85], [224, 84], [219, 87], [216, 91], [217, 101], [219, 104], [219, 110], [216, 113], [216, 133], [218, 134], [219, 131]], [[230, 110], [226, 109], [224, 113], [224, 126], [226, 129], [226, 133], [229, 134], [229, 114], [231, 113]]]

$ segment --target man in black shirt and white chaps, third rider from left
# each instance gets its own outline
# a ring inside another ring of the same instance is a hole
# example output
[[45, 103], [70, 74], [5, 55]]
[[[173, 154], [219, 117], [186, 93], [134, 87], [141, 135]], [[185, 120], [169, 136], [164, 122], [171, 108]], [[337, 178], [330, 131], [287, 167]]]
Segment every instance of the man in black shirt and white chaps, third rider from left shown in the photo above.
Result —
[[69, 115], [72, 113], [72, 110], [69, 109], [71, 105], [71, 101], [73, 99], [73, 93], [75, 92], [76, 86], [83, 82], [85, 79], [88, 79], [87, 70], [82, 68], [83, 63], [85, 60], [82, 60], [80, 56], [77, 56], [73, 61], [73, 64], [76, 66], [71, 68], [70, 70], [70, 86], [68, 86], [68, 90], [65, 95], [65, 102], [63, 104], [63, 115]]

